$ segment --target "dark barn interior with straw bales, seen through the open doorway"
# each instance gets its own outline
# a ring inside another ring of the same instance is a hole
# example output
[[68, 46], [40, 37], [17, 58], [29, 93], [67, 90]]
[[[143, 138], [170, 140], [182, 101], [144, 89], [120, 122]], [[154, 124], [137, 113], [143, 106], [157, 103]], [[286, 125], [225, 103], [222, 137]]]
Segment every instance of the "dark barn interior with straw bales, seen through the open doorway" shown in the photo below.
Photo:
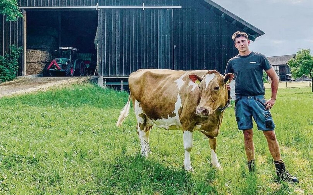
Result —
[[28, 10], [26, 19], [27, 75], [41, 73], [59, 46], [96, 56], [97, 11]]

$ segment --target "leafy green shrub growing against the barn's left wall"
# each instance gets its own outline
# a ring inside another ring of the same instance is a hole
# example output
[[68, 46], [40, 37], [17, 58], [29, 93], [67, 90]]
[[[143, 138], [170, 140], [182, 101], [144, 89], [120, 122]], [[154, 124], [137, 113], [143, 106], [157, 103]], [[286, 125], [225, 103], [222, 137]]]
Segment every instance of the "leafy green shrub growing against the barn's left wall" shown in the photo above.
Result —
[[13, 80], [18, 71], [18, 57], [22, 47], [10, 45], [10, 53], [0, 56], [0, 83]]

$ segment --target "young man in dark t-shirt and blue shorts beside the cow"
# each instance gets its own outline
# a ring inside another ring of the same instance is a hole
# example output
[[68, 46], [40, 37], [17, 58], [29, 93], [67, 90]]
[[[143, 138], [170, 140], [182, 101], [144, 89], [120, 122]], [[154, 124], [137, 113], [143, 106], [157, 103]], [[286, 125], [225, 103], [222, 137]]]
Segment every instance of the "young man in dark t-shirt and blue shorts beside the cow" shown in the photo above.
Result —
[[[263, 131], [267, 139], [269, 151], [274, 158], [277, 176], [287, 182], [299, 182], [285, 169], [274, 132], [275, 124], [269, 112], [269, 109], [275, 105], [278, 76], [263, 54], [249, 50], [250, 41], [246, 33], [235, 32], [232, 39], [239, 54], [228, 61], [225, 74], [233, 73], [235, 75], [235, 115], [238, 129], [244, 133], [244, 149], [248, 158], [249, 171], [255, 171], [253, 117], [258, 129]], [[272, 80], [272, 98], [269, 100], [264, 99], [263, 70]]]

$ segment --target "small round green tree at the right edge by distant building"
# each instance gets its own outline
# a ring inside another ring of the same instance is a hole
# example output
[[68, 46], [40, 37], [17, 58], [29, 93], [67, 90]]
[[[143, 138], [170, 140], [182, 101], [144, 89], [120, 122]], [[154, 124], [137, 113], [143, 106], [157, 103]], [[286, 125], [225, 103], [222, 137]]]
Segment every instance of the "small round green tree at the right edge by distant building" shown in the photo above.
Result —
[[310, 76], [313, 82], [313, 56], [310, 54], [310, 49], [297, 51], [295, 58], [288, 61], [288, 66], [291, 68], [292, 77], [299, 78], [306, 75]]

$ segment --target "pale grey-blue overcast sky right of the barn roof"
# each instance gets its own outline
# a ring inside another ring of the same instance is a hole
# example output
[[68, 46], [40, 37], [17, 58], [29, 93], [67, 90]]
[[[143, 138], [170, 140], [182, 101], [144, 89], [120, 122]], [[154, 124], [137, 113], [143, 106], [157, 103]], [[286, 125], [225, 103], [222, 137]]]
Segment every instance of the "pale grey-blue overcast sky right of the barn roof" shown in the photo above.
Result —
[[266, 56], [313, 53], [313, 0], [213, 0], [265, 34], [250, 50]]

